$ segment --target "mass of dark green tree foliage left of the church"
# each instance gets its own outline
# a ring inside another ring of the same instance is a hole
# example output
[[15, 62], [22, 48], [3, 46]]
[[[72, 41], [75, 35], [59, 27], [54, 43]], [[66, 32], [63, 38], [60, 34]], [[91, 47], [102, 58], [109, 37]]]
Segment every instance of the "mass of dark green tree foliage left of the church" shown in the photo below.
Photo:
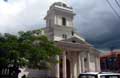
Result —
[[0, 64], [45, 69], [56, 63], [52, 57], [61, 52], [53, 41], [44, 35], [36, 35], [35, 31], [19, 32], [18, 36], [0, 34]]

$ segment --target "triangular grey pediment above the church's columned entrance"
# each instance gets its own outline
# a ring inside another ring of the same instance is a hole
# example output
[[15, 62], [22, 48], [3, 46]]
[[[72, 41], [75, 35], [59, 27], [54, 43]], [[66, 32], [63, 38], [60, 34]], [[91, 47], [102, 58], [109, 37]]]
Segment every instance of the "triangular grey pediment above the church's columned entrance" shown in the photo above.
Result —
[[84, 50], [87, 52], [90, 51], [91, 53], [95, 53], [96, 55], [99, 55], [100, 53], [91, 44], [77, 37], [71, 37], [65, 40], [58, 41], [58, 45], [64, 48], [72, 49], [72, 50], [80, 50], [80, 51]]

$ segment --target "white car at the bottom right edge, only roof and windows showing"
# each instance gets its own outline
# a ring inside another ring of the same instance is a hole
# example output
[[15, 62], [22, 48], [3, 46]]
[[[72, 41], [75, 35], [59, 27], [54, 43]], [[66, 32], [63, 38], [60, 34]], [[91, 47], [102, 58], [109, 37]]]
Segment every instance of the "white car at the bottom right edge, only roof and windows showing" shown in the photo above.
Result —
[[86, 72], [81, 73], [78, 78], [120, 78], [120, 73]]

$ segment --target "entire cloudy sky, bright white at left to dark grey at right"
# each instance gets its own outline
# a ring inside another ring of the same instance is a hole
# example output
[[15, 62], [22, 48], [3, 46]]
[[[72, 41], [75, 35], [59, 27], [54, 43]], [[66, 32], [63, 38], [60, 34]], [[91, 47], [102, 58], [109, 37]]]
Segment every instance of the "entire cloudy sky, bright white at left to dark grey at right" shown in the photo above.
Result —
[[46, 11], [57, 1], [73, 7], [75, 28], [88, 42], [98, 48], [120, 47], [120, 7], [115, 0], [109, 1], [119, 15], [106, 0], [0, 0], [0, 32], [45, 27]]

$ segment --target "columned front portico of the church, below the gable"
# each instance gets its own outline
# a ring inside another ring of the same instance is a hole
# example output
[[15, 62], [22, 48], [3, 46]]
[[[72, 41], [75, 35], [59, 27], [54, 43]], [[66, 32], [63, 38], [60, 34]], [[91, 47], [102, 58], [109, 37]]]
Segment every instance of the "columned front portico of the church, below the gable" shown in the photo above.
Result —
[[[90, 57], [93, 55], [92, 51], [95, 51], [90, 45], [67, 41], [59, 41], [57, 45], [64, 50], [62, 55], [58, 56], [57, 78], [77, 78], [81, 72], [100, 71], [99, 64], [97, 64], [99, 56], [94, 58], [94, 64], [97, 67], [90, 68], [91, 63], [93, 63]], [[91, 52], [89, 52], [90, 50]], [[98, 55], [98, 53], [95, 53], [94, 55]]]

